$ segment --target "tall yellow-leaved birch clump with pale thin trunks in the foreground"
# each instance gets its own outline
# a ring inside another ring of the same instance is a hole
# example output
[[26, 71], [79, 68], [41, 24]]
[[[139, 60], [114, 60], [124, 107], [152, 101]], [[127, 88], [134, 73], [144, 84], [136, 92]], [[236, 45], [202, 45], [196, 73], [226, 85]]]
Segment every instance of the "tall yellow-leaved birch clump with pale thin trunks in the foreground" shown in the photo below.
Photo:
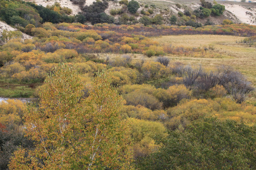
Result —
[[35, 148], [19, 148], [11, 170], [132, 169], [129, 129], [108, 75], [98, 73], [86, 99], [82, 89], [77, 72], [66, 64], [46, 78], [39, 108], [25, 115], [26, 136]]

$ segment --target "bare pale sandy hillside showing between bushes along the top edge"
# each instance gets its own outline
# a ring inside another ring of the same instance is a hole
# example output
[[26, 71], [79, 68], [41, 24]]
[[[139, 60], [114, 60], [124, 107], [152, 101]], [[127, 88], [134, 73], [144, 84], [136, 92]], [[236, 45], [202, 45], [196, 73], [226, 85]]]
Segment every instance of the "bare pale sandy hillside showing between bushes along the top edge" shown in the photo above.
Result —
[[[62, 7], [67, 7], [72, 9], [72, 15], [76, 15], [81, 12], [81, 9], [78, 5], [74, 5], [70, 0], [25, 0], [29, 2], [35, 2], [37, 5], [42, 5], [46, 7], [47, 5], [54, 5], [55, 2], [61, 4]], [[85, 5], [89, 6], [94, 0], [86, 0]], [[119, 0], [118, 0], [119, 1]], [[200, 7], [199, 0], [138, 0], [140, 5], [154, 5], [154, 14], [151, 17], [154, 17], [157, 14], [162, 14], [165, 19], [165, 24], [168, 23], [168, 19], [172, 15], [176, 15], [178, 12], [184, 12], [184, 10], [193, 11]], [[212, 0], [209, 2], [213, 3]], [[251, 0], [251, 2], [241, 3], [235, 0], [217, 0], [219, 4], [225, 6], [226, 10], [223, 13], [223, 16], [220, 17], [207, 17], [204, 19], [197, 18], [197, 22], [205, 24], [208, 19], [214, 24], [222, 24], [224, 19], [229, 19], [233, 23], [246, 23], [250, 25], [256, 25], [256, 0]], [[179, 3], [182, 7], [177, 8], [175, 4]], [[109, 1], [109, 7], [105, 10], [107, 14], [110, 14], [111, 9], [121, 8], [122, 5], [117, 3], [117, 1]], [[139, 8], [137, 13], [140, 14], [141, 10], [144, 8]], [[130, 16], [128, 14], [128, 16]], [[143, 15], [136, 16], [138, 20]], [[116, 15], [115, 18], [118, 19], [120, 15]]]

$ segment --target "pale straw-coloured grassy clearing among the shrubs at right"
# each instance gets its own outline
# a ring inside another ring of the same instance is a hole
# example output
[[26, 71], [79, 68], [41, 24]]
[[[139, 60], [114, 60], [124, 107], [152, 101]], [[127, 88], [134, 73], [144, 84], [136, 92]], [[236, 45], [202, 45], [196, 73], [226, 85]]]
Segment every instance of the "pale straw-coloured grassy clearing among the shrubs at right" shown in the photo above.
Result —
[[192, 56], [169, 55], [173, 62], [180, 61], [193, 66], [202, 65], [214, 69], [220, 65], [231, 66], [241, 71], [256, 85], [256, 49], [237, 43], [244, 37], [227, 35], [170, 35], [154, 38], [155, 41], [172, 46], [204, 48], [212, 46], [213, 52], [223, 54], [224, 58], [198, 58]]

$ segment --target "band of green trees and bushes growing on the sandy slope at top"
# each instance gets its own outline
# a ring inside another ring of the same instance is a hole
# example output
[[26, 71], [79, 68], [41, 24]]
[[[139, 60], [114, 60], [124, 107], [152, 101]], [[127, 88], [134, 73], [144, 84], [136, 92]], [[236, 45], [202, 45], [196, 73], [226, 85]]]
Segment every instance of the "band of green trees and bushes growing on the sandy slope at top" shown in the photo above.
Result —
[[[21, 31], [28, 24], [33, 24], [34, 26], [38, 27], [44, 22], [80, 22], [82, 24], [84, 24], [85, 22], [90, 22], [91, 24], [115, 23], [118, 25], [132, 25], [136, 23], [141, 23], [146, 26], [165, 23], [172, 25], [177, 24], [178, 26], [201, 27], [203, 23], [199, 23], [201, 21], [198, 20], [198, 18], [205, 18], [209, 17], [210, 15], [212, 17], [220, 16], [225, 10], [225, 7], [223, 5], [212, 5], [210, 2], [205, 2], [204, 0], [201, 0], [200, 8], [194, 11], [184, 8], [184, 13], [182, 11], [179, 11], [177, 14], [173, 15], [177, 17], [176, 19], [178, 20], [178, 22], [174, 22], [172, 20], [169, 21], [169, 18], [167, 18], [167, 16], [169, 16], [167, 8], [165, 8], [167, 12], [166, 13], [153, 4], [150, 6], [145, 5], [143, 7], [143, 4], [135, 0], [131, 0], [129, 2], [128, 0], [119, 1], [119, 8], [112, 8], [110, 10], [111, 16], [107, 14], [108, 12], [106, 11], [106, 9], [109, 7], [109, 3], [114, 2], [110, 2], [108, 0], [97, 0], [94, 1], [90, 6], [84, 6], [85, 0], [73, 0], [72, 2], [75, 5], [79, 5], [79, 8], [81, 9], [81, 12], [79, 12], [79, 14], [75, 16], [70, 16], [72, 10], [70, 8], [61, 7], [58, 2], [56, 2], [52, 6], [47, 5], [45, 8], [41, 5], [36, 5], [31, 2], [24, 2], [19, 0], [1, 0], [0, 10], [2, 11], [2, 14], [0, 15], [0, 18], [8, 24], [17, 26], [18, 29], [20, 29]], [[18, 10], [15, 10], [17, 8]], [[182, 8], [182, 6], [178, 5], [177, 8]], [[171, 14], [174, 13], [171, 12]], [[114, 18], [112, 16], [118, 17]], [[212, 25], [211, 22], [208, 22], [208, 25], [209, 24]]]

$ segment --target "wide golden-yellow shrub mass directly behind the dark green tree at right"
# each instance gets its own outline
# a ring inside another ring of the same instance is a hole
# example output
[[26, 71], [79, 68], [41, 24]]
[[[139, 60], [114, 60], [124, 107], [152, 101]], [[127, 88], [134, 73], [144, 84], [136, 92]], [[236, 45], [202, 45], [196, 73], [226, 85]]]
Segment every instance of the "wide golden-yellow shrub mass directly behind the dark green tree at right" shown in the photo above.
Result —
[[183, 101], [176, 107], [167, 110], [171, 119], [167, 121], [166, 126], [175, 129], [179, 125], [186, 126], [193, 120], [210, 116], [219, 119], [243, 120], [251, 125], [256, 122], [255, 108], [255, 106], [238, 104], [228, 98]]

